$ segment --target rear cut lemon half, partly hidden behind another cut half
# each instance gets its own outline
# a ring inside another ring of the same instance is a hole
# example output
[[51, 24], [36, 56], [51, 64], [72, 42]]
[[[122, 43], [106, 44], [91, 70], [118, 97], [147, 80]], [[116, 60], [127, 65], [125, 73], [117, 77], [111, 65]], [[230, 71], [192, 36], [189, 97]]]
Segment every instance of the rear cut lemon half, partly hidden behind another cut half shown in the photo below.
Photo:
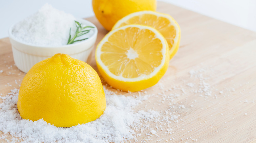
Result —
[[170, 15], [155, 11], [134, 12], [117, 21], [112, 29], [128, 24], [142, 24], [156, 28], [168, 43], [170, 59], [177, 53], [181, 40], [181, 29]]

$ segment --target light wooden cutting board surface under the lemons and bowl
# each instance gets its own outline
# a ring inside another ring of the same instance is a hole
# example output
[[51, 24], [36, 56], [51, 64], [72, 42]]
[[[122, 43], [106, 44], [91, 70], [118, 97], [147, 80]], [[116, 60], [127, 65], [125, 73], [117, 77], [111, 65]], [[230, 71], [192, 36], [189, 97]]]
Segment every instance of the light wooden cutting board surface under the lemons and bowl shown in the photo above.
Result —
[[[256, 142], [256, 33], [164, 2], [158, 2], [157, 11], [170, 14], [180, 24], [181, 44], [160, 83], [144, 91], [157, 95], [164, 90], [164, 94], [169, 95], [181, 89], [181, 93], [173, 97], [175, 109], [171, 109], [168, 102], [158, 102], [161, 95], [150, 97], [136, 108], [153, 107], [179, 115], [179, 122], [163, 124], [163, 131], [157, 133], [159, 136], [149, 135], [152, 140], [148, 142]], [[98, 28], [97, 44], [107, 31], [95, 17], [87, 20]], [[94, 52], [88, 63], [97, 71]], [[0, 40], [0, 70], [3, 70], [0, 93], [5, 96], [10, 89], [19, 88], [25, 76], [14, 65], [8, 38]], [[199, 87], [187, 86], [191, 82], [200, 86], [200, 80], [197, 81], [193, 73], [201, 76], [201, 72], [211, 88], [210, 96], [195, 93]], [[130, 96], [109, 86], [107, 89]], [[141, 93], [132, 93], [137, 94]], [[150, 128], [157, 130], [155, 126], [155, 122], [149, 123]], [[171, 134], [165, 134], [170, 127]], [[148, 132], [142, 132], [138, 139], [146, 138]], [[0, 132], [0, 136], [2, 134]], [[0, 139], [0, 142], [6, 141]]]

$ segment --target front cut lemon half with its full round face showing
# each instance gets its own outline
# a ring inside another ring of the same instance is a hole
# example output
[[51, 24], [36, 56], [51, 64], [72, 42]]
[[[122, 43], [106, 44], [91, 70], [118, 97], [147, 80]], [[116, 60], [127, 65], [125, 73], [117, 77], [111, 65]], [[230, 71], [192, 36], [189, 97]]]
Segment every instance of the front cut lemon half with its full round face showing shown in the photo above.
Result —
[[110, 31], [97, 45], [96, 64], [106, 82], [123, 91], [155, 85], [169, 65], [169, 48], [153, 27], [131, 24]]

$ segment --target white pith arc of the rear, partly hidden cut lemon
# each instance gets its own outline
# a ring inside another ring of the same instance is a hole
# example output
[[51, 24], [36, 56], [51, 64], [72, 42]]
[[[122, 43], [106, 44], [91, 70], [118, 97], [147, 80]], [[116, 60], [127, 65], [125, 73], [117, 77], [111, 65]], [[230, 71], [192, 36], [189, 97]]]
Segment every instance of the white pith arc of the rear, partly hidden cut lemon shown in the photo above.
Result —
[[[122, 23], [125, 23], [127, 20], [129, 20], [130, 18], [134, 17], [134, 16], [139, 16], [139, 15], [142, 15], [142, 14], [153, 14], [153, 15], [156, 15], [158, 17], [164, 17], [164, 18], [167, 18], [171, 24], [175, 27], [176, 29], [176, 36], [174, 38], [174, 43], [173, 45], [177, 45], [177, 42], [178, 42], [178, 34], [180, 32], [180, 28], [177, 24], [177, 22], [169, 15], [166, 15], [166, 14], [161, 14], [161, 13], [158, 13], [158, 12], [154, 12], [154, 11], [139, 11], [139, 12], [134, 12], [134, 13], [131, 13], [125, 17], [123, 17], [122, 19], [120, 19], [119, 21], [117, 21], [117, 23], [114, 25], [115, 27], [119, 27], [120, 24]], [[114, 27], [113, 27], [114, 28]], [[170, 54], [174, 51], [174, 48], [171, 48], [170, 49]]]

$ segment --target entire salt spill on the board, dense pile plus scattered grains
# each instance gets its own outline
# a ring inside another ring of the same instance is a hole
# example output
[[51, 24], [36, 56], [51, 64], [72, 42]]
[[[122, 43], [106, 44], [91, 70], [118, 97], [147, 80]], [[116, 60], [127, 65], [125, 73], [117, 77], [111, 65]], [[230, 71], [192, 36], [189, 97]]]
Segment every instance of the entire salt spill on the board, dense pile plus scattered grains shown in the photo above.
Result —
[[[232, 89], [235, 88], [232, 86], [216, 89], [212, 85], [211, 78], [209, 78], [212, 75], [211, 71], [207, 67], [204, 69], [196, 68], [188, 72], [188, 77], [190, 74], [190, 78], [186, 78], [186, 80], [183, 78], [175, 78], [174, 80], [162, 78], [153, 87], [153, 90], [146, 89], [147, 92], [126, 93], [127, 97], [116, 95], [117, 91], [112, 92], [104, 88], [107, 100], [107, 108], [104, 114], [93, 122], [70, 128], [57, 128], [43, 120], [32, 122], [21, 119], [16, 105], [18, 89], [15, 89], [8, 96], [0, 97], [4, 102], [0, 104], [0, 131], [3, 131], [5, 134], [10, 132], [11, 135], [15, 136], [11, 138], [11, 141], [22, 138], [24, 142], [117, 143], [125, 141], [171, 142], [170, 140], [178, 142], [182, 139], [190, 139], [191, 141], [201, 140], [202, 142], [202, 140], [205, 140], [204, 136], [206, 133], [200, 132], [195, 136], [190, 136], [190, 132], [196, 133], [197, 128], [199, 126], [201, 128], [201, 124], [204, 123], [207, 124], [204, 125], [205, 127], [202, 127], [202, 131], [207, 128], [215, 129], [211, 123], [206, 122], [207, 118], [198, 124], [195, 123], [193, 126], [183, 126], [183, 122], [194, 122], [193, 118], [186, 116], [187, 111], [193, 111], [194, 109], [192, 108], [198, 108], [198, 110], [202, 111], [206, 108], [211, 108], [212, 112], [208, 110], [209, 117], [213, 118], [215, 116], [214, 113], [220, 112], [222, 108], [222, 106], [218, 106], [219, 108], [214, 106], [220, 104], [218, 103], [219, 98], [224, 97], [221, 96], [224, 94], [219, 94], [219, 91], [229, 94], [234, 92]], [[193, 86], [191, 87], [191, 85]], [[161, 90], [160, 92], [155, 91], [154, 88]], [[181, 89], [184, 89], [186, 94]], [[122, 93], [119, 92], [119, 94]], [[197, 100], [194, 99], [196, 96], [198, 96]], [[181, 99], [183, 99], [182, 102]], [[244, 99], [242, 102], [246, 104], [254, 103], [254, 101], [248, 102], [248, 99]], [[202, 103], [208, 103], [208, 105], [202, 108]], [[192, 113], [193, 115], [200, 116], [200, 112]], [[225, 115], [222, 112], [219, 114]], [[249, 113], [244, 113], [244, 116], [249, 116]], [[224, 123], [227, 122], [225, 121]], [[218, 134], [223, 133], [217, 130], [216, 132]], [[182, 133], [182, 135], [177, 135], [177, 133]], [[203, 136], [200, 135], [201, 133]], [[10, 135], [5, 134], [0, 136], [0, 138], [7, 142], [8, 139], [10, 141]]]

